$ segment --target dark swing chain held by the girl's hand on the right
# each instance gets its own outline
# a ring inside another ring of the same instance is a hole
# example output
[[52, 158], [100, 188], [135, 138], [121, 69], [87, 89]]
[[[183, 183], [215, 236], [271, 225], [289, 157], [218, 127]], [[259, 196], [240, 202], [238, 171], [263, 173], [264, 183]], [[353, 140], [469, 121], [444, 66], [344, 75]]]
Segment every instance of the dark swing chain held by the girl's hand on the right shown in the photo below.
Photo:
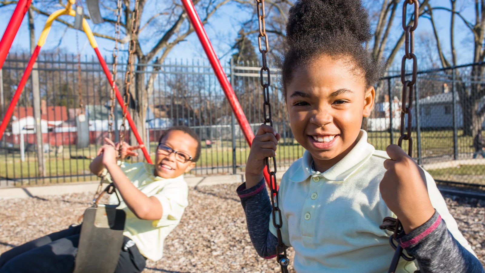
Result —
[[[406, 13], [407, 13], [407, 5], [414, 4], [414, 22], [413, 25], [407, 25], [406, 23]], [[416, 55], [414, 54], [414, 31], [418, 26], [418, 17], [419, 17], [419, 2], [418, 0], [404, 0], [403, 4], [403, 29], [404, 29], [404, 51], [405, 54], [403, 56], [403, 60], [401, 63], [401, 82], [403, 84], [403, 92], [402, 92], [402, 99], [401, 99], [401, 126], [399, 132], [401, 136], [399, 137], [398, 145], [399, 147], [403, 147], [403, 140], [408, 141], [408, 148], [407, 154], [412, 157], [413, 155], [413, 138], [411, 136], [412, 133], [412, 115], [411, 109], [413, 108], [413, 95], [414, 95], [414, 84], [416, 83], [416, 79], [418, 76], [418, 60]], [[411, 80], [406, 80], [406, 60], [413, 60], [413, 70], [412, 70], [412, 77]], [[407, 130], [404, 132], [404, 123], [406, 121], [405, 116], [407, 115]], [[394, 240], [397, 236], [403, 231], [403, 226], [399, 219], [386, 217], [383, 220], [383, 224], [381, 226], [387, 226], [383, 228], [387, 228], [388, 230], [393, 231], [393, 235], [389, 238], [389, 243], [392, 248], [395, 249], [394, 256], [392, 257], [391, 265], [389, 266], [388, 273], [394, 273], [397, 268], [397, 264], [399, 259], [403, 257], [406, 261], [412, 261], [415, 258], [413, 256], [406, 256], [403, 253], [403, 248], [399, 245], [394, 243]]]

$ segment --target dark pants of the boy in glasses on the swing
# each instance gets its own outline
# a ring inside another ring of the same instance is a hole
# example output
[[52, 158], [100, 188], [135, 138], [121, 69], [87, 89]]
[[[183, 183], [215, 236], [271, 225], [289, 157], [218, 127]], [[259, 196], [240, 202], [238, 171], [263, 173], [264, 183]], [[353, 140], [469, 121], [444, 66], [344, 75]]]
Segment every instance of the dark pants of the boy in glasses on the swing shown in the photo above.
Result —
[[[72, 273], [80, 232], [81, 226], [70, 227], [4, 252], [0, 273]], [[128, 241], [125, 236], [114, 273], [139, 273], [145, 268], [146, 258], [136, 245], [125, 247]]]

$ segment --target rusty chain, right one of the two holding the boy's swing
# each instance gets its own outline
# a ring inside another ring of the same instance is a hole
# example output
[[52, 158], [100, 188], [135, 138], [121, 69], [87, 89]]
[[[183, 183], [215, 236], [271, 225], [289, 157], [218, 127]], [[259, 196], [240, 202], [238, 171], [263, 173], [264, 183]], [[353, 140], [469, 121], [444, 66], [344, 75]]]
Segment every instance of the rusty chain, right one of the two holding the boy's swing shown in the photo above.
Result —
[[133, 72], [133, 53], [136, 50], [136, 30], [138, 28], [138, 0], [135, 1], [135, 7], [133, 12], [131, 13], [131, 39], [129, 40], [129, 48], [128, 48], [128, 64], [125, 73], [125, 93], [123, 94], [123, 123], [121, 123], [119, 138], [120, 138], [120, 149], [123, 146], [123, 141], [126, 135], [126, 116], [128, 113], [128, 106], [130, 100], [130, 93], [129, 93], [129, 85], [131, 84], [131, 74]]

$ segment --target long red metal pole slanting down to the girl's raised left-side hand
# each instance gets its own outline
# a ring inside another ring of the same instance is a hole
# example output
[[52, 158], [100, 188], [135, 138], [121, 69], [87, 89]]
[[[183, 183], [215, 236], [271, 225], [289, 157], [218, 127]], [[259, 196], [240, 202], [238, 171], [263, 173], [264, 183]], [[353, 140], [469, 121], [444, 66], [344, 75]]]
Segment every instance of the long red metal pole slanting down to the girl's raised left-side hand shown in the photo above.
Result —
[[[224, 73], [221, 63], [219, 62], [219, 59], [217, 58], [217, 55], [212, 48], [212, 44], [210, 43], [206, 31], [204, 30], [204, 26], [202, 25], [202, 22], [200, 21], [200, 18], [195, 11], [194, 3], [192, 3], [192, 0], [182, 0], [182, 4], [185, 8], [185, 11], [187, 12], [192, 26], [194, 27], [195, 33], [197, 33], [200, 43], [204, 48], [204, 51], [206, 52], [210, 65], [212, 66], [212, 69], [214, 70], [214, 73], [219, 80], [219, 84], [221, 84], [221, 87], [224, 90], [224, 94], [226, 94], [226, 98], [231, 105], [234, 116], [238, 120], [239, 126], [241, 126], [242, 133], [244, 134], [244, 137], [246, 138], [249, 147], [251, 147], [251, 143], [253, 142], [254, 138], [253, 130], [251, 130], [249, 122], [247, 121], [246, 116], [242, 111], [241, 104], [239, 104], [236, 94], [234, 94], [234, 90], [227, 80], [226, 73]], [[271, 185], [269, 185], [270, 177], [266, 168], [264, 169], [263, 174], [264, 178], [266, 179], [266, 183], [271, 188]]]

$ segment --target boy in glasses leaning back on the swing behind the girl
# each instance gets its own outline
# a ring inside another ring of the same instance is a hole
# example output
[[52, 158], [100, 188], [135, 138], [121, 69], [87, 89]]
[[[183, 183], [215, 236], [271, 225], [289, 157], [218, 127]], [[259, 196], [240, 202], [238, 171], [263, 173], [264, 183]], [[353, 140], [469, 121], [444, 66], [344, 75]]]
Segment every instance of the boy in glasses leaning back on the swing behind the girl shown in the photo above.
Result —
[[[126, 213], [124, 240], [115, 273], [142, 272], [146, 259], [163, 255], [165, 237], [178, 225], [188, 205], [183, 174], [200, 156], [200, 139], [192, 129], [175, 126], [159, 139], [154, 164], [117, 165], [118, 144], [105, 139], [91, 162], [94, 174], [106, 175], [121, 196], [118, 208]], [[137, 155], [141, 145], [124, 143], [121, 158]], [[110, 204], [118, 204], [114, 194]], [[27, 242], [0, 256], [1, 273], [71, 273], [74, 270], [81, 226]]]

